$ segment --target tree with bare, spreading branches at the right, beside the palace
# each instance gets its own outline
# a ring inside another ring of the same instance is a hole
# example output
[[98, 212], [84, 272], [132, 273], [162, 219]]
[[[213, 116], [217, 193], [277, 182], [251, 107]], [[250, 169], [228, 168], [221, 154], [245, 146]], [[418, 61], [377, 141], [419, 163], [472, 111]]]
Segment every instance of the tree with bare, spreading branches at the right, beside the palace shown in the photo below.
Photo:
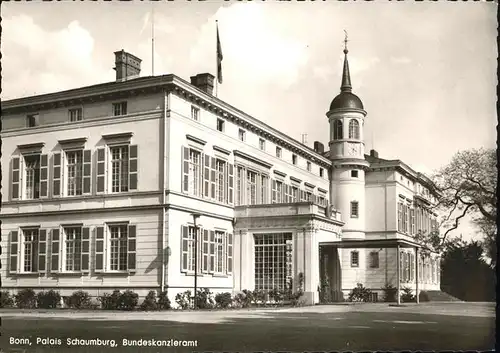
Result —
[[436, 210], [445, 211], [443, 226], [448, 234], [457, 229], [460, 220], [472, 216], [475, 225], [485, 233], [488, 256], [496, 259], [496, 220], [498, 179], [497, 156], [494, 149], [461, 151], [432, 178], [438, 193]]

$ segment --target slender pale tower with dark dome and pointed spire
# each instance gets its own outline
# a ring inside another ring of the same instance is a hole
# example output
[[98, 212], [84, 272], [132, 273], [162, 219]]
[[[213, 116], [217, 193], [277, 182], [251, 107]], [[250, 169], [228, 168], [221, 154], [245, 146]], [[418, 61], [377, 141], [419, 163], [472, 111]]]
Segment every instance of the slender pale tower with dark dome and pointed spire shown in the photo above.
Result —
[[[326, 113], [330, 123], [330, 203], [342, 213], [345, 225], [343, 239], [365, 237], [365, 160], [363, 127], [366, 111], [358, 96], [352, 93], [347, 60], [347, 35], [340, 93]], [[361, 254], [360, 254], [361, 255]]]

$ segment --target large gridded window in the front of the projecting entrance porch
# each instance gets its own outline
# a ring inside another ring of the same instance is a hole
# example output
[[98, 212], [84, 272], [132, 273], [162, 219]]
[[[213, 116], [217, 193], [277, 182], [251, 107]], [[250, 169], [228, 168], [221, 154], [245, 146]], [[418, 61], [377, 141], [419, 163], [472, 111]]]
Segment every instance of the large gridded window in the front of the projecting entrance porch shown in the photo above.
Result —
[[292, 234], [255, 235], [255, 289], [286, 290], [293, 276]]

